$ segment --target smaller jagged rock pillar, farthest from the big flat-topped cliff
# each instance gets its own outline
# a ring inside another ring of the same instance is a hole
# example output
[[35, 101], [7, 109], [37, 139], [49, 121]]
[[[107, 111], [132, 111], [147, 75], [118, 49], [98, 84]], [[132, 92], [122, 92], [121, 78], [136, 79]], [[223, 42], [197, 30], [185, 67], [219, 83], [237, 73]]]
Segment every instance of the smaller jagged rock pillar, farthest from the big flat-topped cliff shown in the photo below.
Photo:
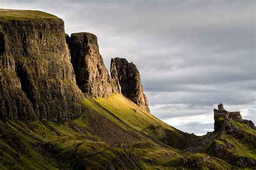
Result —
[[146, 95], [143, 93], [142, 82], [137, 67], [126, 59], [111, 59], [112, 79], [120, 83], [122, 94], [139, 107], [150, 112]]

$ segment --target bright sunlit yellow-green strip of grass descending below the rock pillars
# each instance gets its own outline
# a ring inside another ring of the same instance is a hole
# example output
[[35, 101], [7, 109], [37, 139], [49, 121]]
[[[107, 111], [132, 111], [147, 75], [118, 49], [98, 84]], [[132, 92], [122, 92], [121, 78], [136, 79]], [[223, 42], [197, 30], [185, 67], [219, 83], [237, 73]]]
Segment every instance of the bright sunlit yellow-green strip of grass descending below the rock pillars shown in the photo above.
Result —
[[172, 141], [169, 142], [171, 146], [179, 147], [181, 146], [181, 141], [185, 143], [184, 141], [187, 141], [187, 138], [192, 139], [195, 137], [160, 121], [122, 95], [114, 94], [108, 98], [98, 98], [95, 101], [103, 105], [104, 108], [133, 129], [162, 141], [166, 138], [172, 139]]

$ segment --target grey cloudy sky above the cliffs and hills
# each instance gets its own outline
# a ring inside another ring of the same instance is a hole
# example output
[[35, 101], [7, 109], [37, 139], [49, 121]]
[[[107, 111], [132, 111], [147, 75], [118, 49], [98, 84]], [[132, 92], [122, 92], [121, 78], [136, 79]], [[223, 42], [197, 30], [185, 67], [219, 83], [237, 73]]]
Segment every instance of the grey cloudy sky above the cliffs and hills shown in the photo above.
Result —
[[114, 57], [137, 65], [151, 113], [177, 129], [213, 131], [219, 103], [256, 123], [254, 0], [0, 0], [0, 8], [49, 12], [68, 34], [96, 34], [106, 67]]

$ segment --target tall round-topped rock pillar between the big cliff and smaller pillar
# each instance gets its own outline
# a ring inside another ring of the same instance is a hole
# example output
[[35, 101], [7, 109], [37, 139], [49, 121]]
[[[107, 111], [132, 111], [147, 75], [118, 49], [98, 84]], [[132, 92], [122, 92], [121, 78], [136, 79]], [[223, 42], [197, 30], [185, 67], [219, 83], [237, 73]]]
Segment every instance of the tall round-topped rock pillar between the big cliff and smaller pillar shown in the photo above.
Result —
[[111, 79], [99, 53], [97, 37], [82, 32], [66, 36], [71, 53], [71, 62], [78, 87], [87, 97], [108, 97], [119, 93], [119, 87]]

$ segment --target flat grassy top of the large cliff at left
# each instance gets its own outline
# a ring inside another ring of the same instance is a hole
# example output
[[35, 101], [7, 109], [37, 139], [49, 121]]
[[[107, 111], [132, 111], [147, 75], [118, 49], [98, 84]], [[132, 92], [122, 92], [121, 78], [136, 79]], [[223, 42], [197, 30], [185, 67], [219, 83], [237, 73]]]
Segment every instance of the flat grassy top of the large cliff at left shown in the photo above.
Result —
[[60, 18], [51, 15], [50, 13], [42, 11], [32, 11], [32, 10], [9, 10], [0, 9], [0, 22], [9, 20], [44, 20], [45, 22], [49, 20], [60, 20]]

